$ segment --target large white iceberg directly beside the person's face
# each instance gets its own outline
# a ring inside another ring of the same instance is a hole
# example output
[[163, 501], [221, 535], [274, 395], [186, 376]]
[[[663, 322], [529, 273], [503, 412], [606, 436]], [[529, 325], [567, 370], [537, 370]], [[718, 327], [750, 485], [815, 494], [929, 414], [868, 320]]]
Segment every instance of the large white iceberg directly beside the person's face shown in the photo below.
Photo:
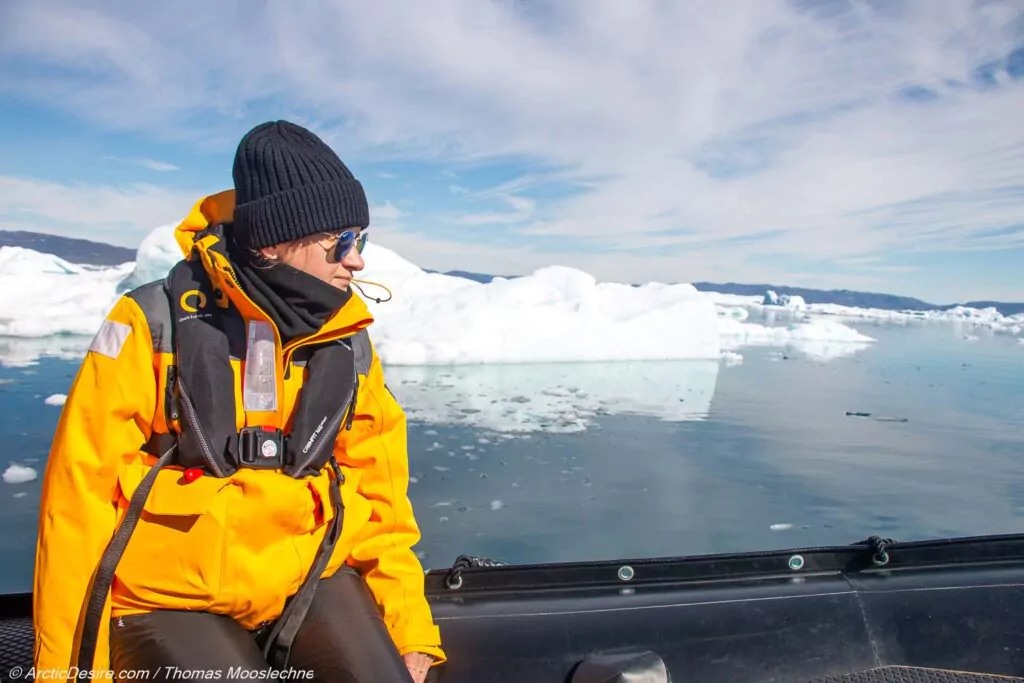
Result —
[[[366, 252], [367, 280], [392, 301], [371, 302], [371, 333], [390, 365], [717, 359], [715, 304], [690, 285], [598, 283], [561, 266], [487, 284], [395, 266]], [[370, 290], [367, 290], [371, 294]]]

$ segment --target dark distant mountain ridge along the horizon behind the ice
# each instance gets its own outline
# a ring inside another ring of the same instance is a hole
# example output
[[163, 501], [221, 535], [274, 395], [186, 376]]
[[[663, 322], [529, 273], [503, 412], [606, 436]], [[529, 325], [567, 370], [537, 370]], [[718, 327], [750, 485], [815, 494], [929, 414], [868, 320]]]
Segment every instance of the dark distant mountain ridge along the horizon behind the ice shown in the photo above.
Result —
[[[55, 234], [29, 232], [25, 230], [0, 230], [0, 247], [23, 247], [53, 254], [66, 261], [84, 265], [120, 265], [135, 260], [135, 250], [125, 247], [89, 240], [63, 238]], [[429, 270], [428, 272], [438, 272]], [[489, 283], [499, 275], [492, 275], [471, 270], [447, 270], [446, 275], [465, 278], [477, 283]], [[519, 275], [500, 275], [510, 280]], [[885, 310], [947, 310], [957, 305], [972, 308], [995, 308], [1004, 315], [1015, 315], [1024, 312], [1024, 303], [1008, 303], [1004, 301], [968, 301], [963, 304], [933, 304], [912, 297], [894, 294], [879, 294], [871, 292], [855, 292], [851, 290], [815, 290], [803, 287], [785, 287], [782, 285], [744, 285], [738, 283], [693, 283], [701, 292], [720, 292], [722, 294], [738, 294], [741, 296], [764, 296], [768, 290], [776, 294], [799, 295], [807, 303], [834, 303], [858, 308], [882, 308]]]

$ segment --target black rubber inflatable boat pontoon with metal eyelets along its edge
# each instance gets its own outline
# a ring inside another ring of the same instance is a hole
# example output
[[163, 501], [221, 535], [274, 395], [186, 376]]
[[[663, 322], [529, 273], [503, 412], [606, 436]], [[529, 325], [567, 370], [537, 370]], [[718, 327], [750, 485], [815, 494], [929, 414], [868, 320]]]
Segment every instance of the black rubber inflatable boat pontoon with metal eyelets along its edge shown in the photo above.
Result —
[[[486, 564], [427, 572], [438, 683], [1024, 682], [1024, 535]], [[31, 606], [0, 598], [0, 677]]]

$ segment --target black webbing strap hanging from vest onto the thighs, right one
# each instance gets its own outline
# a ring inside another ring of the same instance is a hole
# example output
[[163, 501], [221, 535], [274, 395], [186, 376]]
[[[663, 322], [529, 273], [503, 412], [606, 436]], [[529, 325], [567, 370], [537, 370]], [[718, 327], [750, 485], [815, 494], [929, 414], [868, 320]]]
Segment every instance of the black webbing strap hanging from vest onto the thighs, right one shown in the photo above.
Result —
[[324, 533], [324, 540], [316, 551], [316, 559], [313, 560], [309, 573], [306, 574], [298, 592], [285, 606], [263, 644], [263, 656], [278, 670], [283, 670], [288, 666], [292, 643], [295, 642], [299, 627], [302, 626], [306, 612], [309, 611], [309, 605], [312, 604], [321, 574], [327, 568], [331, 555], [334, 554], [334, 547], [341, 536], [342, 517], [344, 516], [344, 508], [341, 504], [341, 482], [344, 477], [333, 457], [329, 462], [331, 469], [334, 470], [334, 478], [331, 481], [331, 505], [334, 508], [334, 519], [331, 520], [331, 526]]

